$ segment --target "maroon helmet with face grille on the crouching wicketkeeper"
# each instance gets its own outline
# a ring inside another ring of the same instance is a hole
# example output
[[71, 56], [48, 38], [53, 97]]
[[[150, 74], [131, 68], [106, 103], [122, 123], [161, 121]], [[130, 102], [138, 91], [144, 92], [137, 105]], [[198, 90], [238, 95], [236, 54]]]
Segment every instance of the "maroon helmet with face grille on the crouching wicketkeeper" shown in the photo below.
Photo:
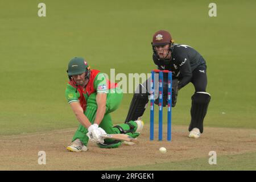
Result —
[[171, 51], [172, 53], [174, 49], [174, 40], [172, 40], [171, 34], [165, 30], [159, 30], [155, 32], [155, 34], [153, 35], [151, 45], [152, 45], [154, 54], [158, 57], [159, 60], [166, 60], [166, 59], [160, 59], [158, 52], [155, 49], [155, 46], [165, 46], [167, 44], [170, 45], [169, 51]]

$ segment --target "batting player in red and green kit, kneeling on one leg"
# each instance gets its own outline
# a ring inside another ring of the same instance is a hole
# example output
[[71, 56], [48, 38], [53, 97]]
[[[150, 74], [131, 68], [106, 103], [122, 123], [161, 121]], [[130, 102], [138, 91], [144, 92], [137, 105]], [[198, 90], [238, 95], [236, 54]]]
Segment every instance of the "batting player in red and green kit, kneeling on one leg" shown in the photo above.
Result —
[[137, 138], [143, 129], [143, 122], [129, 121], [113, 126], [110, 113], [121, 104], [123, 93], [117, 84], [106, 79], [104, 73], [90, 69], [82, 57], [75, 57], [68, 64], [69, 82], [65, 97], [80, 125], [72, 138], [68, 151], [88, 150], [88, 141], [101, 148], [116, 148], [123, 142], [104, 139], [104, 134], [127, 134]]

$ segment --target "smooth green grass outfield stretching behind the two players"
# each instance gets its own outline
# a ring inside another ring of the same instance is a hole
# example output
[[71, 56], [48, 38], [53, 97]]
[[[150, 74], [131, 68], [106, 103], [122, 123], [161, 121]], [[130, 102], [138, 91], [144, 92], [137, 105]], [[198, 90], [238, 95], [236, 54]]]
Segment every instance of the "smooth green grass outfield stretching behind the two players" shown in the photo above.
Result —
[[[40, 2], [46, 17], [38, 17]], [[210, 2], [0, 1], [0, 135], [78, 126], [64, 97], [69, 60], [85, 57], [105, 73], [149, 73], [155, 68], [151, 37], [161, 29], [207, 61], [212, 100], [205, 126], [256, 129], [256, 2], [214, 1], [213, 18]], [[192, 84], [180, 90], [174, 125], [189, 124], [193, 92]], [[112, 113], [115, 123], [126, 118], [131, 97], [125, 94]]]

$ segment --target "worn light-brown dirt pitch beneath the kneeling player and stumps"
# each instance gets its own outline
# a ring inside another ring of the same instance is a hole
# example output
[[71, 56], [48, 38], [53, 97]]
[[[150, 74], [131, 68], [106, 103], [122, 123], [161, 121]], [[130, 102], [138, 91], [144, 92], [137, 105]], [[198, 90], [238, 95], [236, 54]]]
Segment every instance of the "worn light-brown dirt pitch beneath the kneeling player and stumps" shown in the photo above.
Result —
[[[138, 138], [139, 144], [102, 149], [89, 143], [86, 152], [68, 152], [65, 146], [75, 130], [0, 137], [0, 170], [105, 170], [208, 158], [209, 151], [216, 151], [218, 156], [256, 151], [255, 129], [205, 127], [199, 139], [191, 139], [187, 126], [173, 126], [172, 141], [167, 142], [164, 133], [164, 140], [159, 142], [149, 140], [146, 125]], [[155, 128], [155, 138], [157, 131]], [[166, 147], [167, 153], [160, 154], [160, 147]], [[39, 151], [46, 152], [46, 165], [38, 164]]]

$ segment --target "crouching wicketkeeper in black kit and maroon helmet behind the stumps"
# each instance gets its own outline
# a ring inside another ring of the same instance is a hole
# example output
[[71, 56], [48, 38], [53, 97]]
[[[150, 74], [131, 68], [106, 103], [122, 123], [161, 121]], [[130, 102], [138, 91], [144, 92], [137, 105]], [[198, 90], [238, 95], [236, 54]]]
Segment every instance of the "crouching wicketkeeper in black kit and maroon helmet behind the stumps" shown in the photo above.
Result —
[[[174, 44], [171, 34], [164, 30], [155, 32], [151, 45], [152, 60], [156, 67], [159, 70], [172, 71], [172, 107], [176, 105], [180, 89], [189, 82], [192, 82], [195, 87], [195, 92], [191, 97], [191, 121], [188, 127], [188, 137], [199, 138], [203, 133], [203, 121], [210, 102], [210, 94], [206, 91], [207, 65], [203, 56], [191, 46]], [[148, 78], [146, 82], [139, 84], [131, 101], [126, 122], [142, 117], [148, 103], [150, 81], [151, 78]], [[163, 106], [167, 105], [167, 85], [168, 74], [164, 73]], [[155, 93], [158, 93], [158, 83], [156, 82]], [[155, 100], [155, 104], [158, 104], [158, 99]]]

